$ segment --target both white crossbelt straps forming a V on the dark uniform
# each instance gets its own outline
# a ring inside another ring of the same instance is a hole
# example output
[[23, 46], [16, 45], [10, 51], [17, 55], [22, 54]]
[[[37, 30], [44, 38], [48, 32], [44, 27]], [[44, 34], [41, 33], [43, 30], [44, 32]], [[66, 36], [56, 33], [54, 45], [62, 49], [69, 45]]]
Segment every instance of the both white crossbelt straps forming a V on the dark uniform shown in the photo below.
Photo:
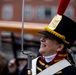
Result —
[[[36, 62], [37, 62], [37, 59], [38, 58], [32, 60], [32, 75], [36, 75]], [[60, 71], [61, 69], [65, 68], [67, 66], [70, 66], [70, 65], [71, 64], [66, 59], [63, 59], [63, 60], [55, 63], [54, 65], [48, 67], [47, 69], [43, 70], [42, 72], [40, 72], [37, 75], [46, 75], [46, 74], [53, 75], [56, 72]]]

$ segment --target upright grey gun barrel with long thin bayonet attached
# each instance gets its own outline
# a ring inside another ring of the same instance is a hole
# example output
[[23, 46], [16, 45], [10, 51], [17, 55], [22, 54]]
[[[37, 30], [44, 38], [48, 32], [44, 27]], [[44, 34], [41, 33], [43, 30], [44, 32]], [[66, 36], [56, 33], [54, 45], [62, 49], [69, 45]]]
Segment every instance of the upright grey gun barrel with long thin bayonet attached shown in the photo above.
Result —
[[27, 75], [32, 75], [32, 53], [31, 52], [24, 52], [23, 44], [24, 44], [24, 0], [22, 0], [22, 32], [21, 32], [21, 52], [28, 57], [28, 66], [27, 66]]

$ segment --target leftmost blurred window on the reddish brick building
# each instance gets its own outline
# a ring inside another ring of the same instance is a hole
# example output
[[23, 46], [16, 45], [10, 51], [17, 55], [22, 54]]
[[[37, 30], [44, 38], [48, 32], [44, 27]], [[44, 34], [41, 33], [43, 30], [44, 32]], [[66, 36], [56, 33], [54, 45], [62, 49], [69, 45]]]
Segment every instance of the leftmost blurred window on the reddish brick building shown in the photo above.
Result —
[[10, 4], [4, 5], [2, 8], [2, 19], [11, 20], [13, 17], [13, 6]]

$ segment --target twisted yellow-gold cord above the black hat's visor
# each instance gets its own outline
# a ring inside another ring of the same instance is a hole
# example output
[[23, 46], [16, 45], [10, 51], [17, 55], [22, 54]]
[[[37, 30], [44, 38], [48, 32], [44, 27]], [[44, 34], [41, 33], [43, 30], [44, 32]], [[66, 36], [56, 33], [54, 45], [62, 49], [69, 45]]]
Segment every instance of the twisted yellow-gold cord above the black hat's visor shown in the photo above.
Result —
[[52, 33], [53, 35], [55, 35], [58, 38], [62, 39], [63, 42], [65, 42], [66, 44], [69, 44], [69, 42], [65, 40], [65, 36], [64, 35], [61, 35], [61, 34], [55, 32], [54, 30], [51, 30], [48, 26], [45, 26], [45, 31], [48, 31], [49, 33]]

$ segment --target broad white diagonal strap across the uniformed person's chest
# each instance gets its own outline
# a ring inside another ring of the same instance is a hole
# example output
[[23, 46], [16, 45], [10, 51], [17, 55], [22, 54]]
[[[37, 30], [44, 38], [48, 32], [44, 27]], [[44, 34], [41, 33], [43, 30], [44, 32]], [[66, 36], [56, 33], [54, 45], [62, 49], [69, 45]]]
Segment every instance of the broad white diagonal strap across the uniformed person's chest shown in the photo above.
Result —
[[63, 60], [55, 63], [54, 65], [48, 67], [47, 69], [43, 70], [42, 72], [40, 72], [37, 75], [46, 75], [46, 74], [53, 75], [56, 72], [62, 70], [63, 68], [65, 68], [67, 66], [70, 66], [70, 65], [71, 64], [66, 59], [63, 59]]

